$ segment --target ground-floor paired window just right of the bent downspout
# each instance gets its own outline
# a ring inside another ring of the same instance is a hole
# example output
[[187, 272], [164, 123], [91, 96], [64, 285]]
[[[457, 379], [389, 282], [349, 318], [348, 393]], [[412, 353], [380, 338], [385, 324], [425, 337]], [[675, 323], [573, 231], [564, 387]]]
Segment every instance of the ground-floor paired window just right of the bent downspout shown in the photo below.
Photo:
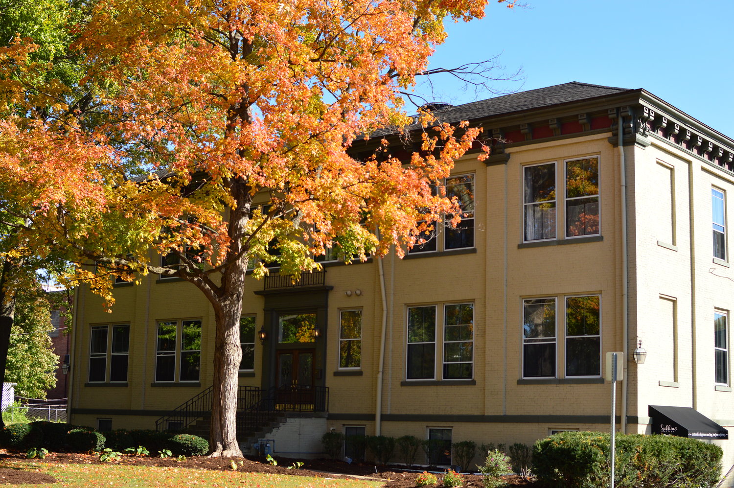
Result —
[[[440, 323], [443, 333], [437, 343]], [[473, 379], [473, 303], [408, 307], [407, 326], [406, 379], [435, 379], [437, 357], [441, 379]]]

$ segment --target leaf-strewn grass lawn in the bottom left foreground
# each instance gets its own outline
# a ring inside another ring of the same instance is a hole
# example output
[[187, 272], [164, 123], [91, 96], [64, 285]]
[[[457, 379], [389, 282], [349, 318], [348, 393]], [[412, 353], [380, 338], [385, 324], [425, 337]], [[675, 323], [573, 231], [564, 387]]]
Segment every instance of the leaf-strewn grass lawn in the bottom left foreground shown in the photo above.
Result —
[[17, 484], [15, 487], [197, 487], [197, 488], [379, 488], [380, 481], [309, 478], [238, 471], [212, 471], [184, 467], [126, 465], [63, 465], [39, 462], [2, 462], [0, 467], [38, 470], [59, 480], [56, 484]]

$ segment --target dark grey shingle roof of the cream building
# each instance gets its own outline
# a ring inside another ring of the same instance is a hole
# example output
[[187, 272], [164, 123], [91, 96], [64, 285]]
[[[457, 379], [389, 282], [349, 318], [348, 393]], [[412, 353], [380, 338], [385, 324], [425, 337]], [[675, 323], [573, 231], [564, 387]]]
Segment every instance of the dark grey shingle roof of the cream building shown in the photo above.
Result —
[[[484, 117], [492, 117], [493, 115], [540, 109], [559, 103], [582, 101], [605, 95], [617, 95], [628, 91], [631, 90], [628, 88], [604, 87], [598, 84], [571, 81], [570, 83], [556, 84], [553, 87], [501, 95], [495, 98], [487, 98], [487, 100], [437, 109], [433, 114], [441, 122], [457, 123], [462, 120], [477, 120]], [[418, 128], [419, 126], [419, 124], [411, 125], [408, 130]]]

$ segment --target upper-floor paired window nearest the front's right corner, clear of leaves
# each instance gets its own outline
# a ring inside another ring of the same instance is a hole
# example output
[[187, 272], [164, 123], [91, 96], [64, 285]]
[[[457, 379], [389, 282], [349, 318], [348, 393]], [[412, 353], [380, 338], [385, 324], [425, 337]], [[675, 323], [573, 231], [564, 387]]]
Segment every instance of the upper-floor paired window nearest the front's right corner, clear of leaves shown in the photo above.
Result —
[[558, 173], [556, 161], [523, 167], [523, 241], [558, 238], [559, 208], [566, 238], [599, 234], [599, 158], [564, 160]]

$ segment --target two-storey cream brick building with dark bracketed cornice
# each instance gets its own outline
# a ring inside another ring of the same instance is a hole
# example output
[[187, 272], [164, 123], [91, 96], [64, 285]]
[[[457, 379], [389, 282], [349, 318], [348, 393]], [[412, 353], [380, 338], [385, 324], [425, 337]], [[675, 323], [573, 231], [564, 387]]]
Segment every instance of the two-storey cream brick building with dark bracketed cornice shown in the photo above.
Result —
[[[402, 260], [327, 257], [296, 285], [277, 269], [248, 278], [240, 384], [298, 385], [291, 404], [310, 404], [262, 434], [275, 452], [320, 456], [330, 429], [478, 445], [608, 431], [607, 352], [625, 352], [617, 429], [659, 430], [650, 405], [734, 426], [734, 141], [642, 89], [573, 82], [433, 108], [493, 137], [490, 159], [470, 151], [446, 181], [458, 229]], [[166, 427], [211, 385], [214, 315], [193, 285], [116, 284], [112, 314], [77, 294], [73, 423]], [[724, 430], [708, 435], [728, 470]]]

